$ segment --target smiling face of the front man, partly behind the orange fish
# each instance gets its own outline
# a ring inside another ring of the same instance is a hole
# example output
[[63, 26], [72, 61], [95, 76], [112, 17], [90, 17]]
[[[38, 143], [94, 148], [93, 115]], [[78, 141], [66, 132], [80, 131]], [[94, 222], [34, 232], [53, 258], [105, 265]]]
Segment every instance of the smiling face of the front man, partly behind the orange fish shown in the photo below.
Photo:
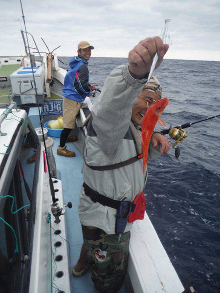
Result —
[[143, 89], [137, 97], [136, 103], [132, 106], [132, 121], [137, 125], [142, 125], [147, 108], [154, 103], [152, 99], [158, 101], [161, 97], [147, 89]]

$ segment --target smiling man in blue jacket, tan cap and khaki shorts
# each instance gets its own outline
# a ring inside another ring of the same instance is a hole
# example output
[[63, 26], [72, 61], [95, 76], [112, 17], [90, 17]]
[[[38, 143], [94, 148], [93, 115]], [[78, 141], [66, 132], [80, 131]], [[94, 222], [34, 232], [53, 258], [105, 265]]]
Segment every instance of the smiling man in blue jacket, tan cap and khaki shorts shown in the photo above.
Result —
[[68, 138], [70, 131], [76, 127], [76, 116], [79, 113], [81, 103], [91, 91], [96, 90], [96, 86], [88, 84], [88, 60], [91, 57], [91, 50], [94, 47], [87, 41], [78, 44], [78, 56], [74, 56], [69, 63], [70, 70], [66, 73], [63, 87], [63, 119], [64, 129], [60, 137], [60, 146], [57, 147], [57, 154], [65, 157], [74, 157], [74, 151], [66, 148], [66, 142], [74, 142], [77, 137]]

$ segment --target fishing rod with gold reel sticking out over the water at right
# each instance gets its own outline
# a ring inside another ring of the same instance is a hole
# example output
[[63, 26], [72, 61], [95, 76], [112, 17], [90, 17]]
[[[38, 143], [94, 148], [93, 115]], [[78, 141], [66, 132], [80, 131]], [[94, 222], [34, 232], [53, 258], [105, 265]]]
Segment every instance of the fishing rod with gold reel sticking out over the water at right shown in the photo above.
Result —
[[175, 148], [175, 157], [176, 159], [178, 159], [179, 155], [180, 155], [180, 148], [179, 146], [176, 146], [177, 144], [181, 143], [186, 137], [187, 137], [187, 133], [185, 130], [183, 130], [184, 128], [188, 128], [194, 124], [203, 122], [203, 121], [207, 121], [216, 117], [220, 117], [220, 114], [216, 115], [216, 116], [212, 116], [209, 118], [205, 118], [202, 120], [198, 120], [196, 122], [189, 122], [189, 123], [185, 123], [176, 127], [172, 127], [170, 126], [169, 129], [164, 129], [162, 131], [160, 131], [162, 134], [166, 135], [169, 134], [169, 136], [174, 139], [176, 142], [173, 145], [173, 148]]

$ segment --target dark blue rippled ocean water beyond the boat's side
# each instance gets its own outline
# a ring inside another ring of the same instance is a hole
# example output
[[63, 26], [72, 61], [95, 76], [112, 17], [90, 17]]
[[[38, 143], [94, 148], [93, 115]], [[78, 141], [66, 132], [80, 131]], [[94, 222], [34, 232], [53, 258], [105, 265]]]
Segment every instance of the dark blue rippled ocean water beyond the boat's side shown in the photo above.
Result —
[[[70, 57], [60, 57], [68, 69]], [[91, 58], [90, 82], [102, 89], [125, 58]], [[167, 126], [220, 114], [220, 62], [164, 60], [155, 71], [170, 100]], [[185, 288], [220, 292], [220, 117], [187, 129], [180, 144], [149, 162], [147, 212]], [[174, 141], [170, 139], [170, 143]]]

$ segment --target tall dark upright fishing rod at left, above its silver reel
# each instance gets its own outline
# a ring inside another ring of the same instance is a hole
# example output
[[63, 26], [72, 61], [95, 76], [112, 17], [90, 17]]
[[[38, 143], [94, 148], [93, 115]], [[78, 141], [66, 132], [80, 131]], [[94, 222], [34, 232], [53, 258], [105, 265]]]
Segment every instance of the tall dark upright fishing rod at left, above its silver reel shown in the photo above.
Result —
[[[28, 41], [28, 37], [27, 37], [27, 29], [26, 29], [26, 23], [25, 23], [25, 19], [24, 19], [24, 13], [23, 13], [23, 7], [22, 7], [22, 0], [20, 0], [20, 3], [21, 3], [21, 8], [22, 8], [22, 19], [23, 19], [25, 33], [26, 33], [26, 39], [27, 39], [28, 53], [29, 53], [29, 56], [30, 56], [31, 55], [31, 52], [30, 52], [30, 46], [29, 46], [29, 41]], [[31, 64], [32, 76], [33, 76], [33, 81], [34, 81], [35, 98], [36, 98], [36, 101], [37, 101], [38, 112], [39, 112], [39, 117], [40, 117], [40, 125], [41, 125], [41, 129], [42, 129], [42, 133], [43, 133], [43, 141], [44, 141], [44, 149], [45, 149], [45, 155], [46, 155], [46, 163], [47, 163], [48, 173], [49, 173], [50, 192], [51, 192], [51, 197], [52, 197], [53, 205], [57, 205], [56, 202], [59, 199], [58, 198], [55, 198], [55, 190], [54, 190], [53, 181], [52, 181], [52, 178], [51, 178], [51, 175], [50, 175], [50, 165], [49, 165], [49, 161], [48, 161], [48, 155], [47, 155], [47, 149], [46, 149], [46, 143], [45, 143], [45, 137], [44, 137], [44, 129], [43, 129], [43, 117], [42, 117], [41, 111], [40, 111], [40, 104], [39, 104], [39, 100], [38, 100], [38, 92], [37, 92], [36, 80], [35, 80], [35, 76], [34, 76], [33, 63], [32, 63], [32, 59], [31, 58], [30, 58], [30, 64]]]

